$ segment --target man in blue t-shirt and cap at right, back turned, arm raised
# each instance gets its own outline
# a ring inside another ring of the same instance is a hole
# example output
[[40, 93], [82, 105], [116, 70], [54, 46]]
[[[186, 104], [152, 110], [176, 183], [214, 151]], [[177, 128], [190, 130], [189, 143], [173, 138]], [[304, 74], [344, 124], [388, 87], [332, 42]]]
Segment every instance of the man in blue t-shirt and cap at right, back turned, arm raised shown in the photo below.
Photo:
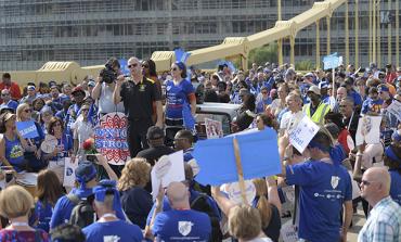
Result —
[[332, 145], [327, 130], [321, 129], [307, 147], [310, 161], [292, 165], [290, 154], [284, 157], [286, 183], [300, 186], [298, 237], [311, 242], [347, 241], [352, 219], [351, 177]]

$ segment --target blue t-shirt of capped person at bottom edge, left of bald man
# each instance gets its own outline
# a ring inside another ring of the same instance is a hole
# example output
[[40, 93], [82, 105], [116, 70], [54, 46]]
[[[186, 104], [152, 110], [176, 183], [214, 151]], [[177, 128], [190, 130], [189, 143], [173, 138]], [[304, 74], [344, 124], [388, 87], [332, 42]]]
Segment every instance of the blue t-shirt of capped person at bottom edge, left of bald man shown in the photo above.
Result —
[[87, 242], [99, 241], [132, 241], [141, 242], [143, 239], [141, 229], [122, 220], [93, 222], [82, 229]]

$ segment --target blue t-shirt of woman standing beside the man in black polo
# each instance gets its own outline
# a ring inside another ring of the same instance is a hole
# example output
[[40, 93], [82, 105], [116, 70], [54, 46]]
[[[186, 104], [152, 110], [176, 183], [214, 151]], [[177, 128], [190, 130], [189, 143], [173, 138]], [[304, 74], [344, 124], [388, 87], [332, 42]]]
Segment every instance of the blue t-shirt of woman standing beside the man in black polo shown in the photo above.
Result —
[[178, 86], [169, 80], [166, 82], [166, 117], [182, 118], [182, 105], [190, 103], [189, 95], [195, 93], [194, 87], [186, 79], [183, 79]]

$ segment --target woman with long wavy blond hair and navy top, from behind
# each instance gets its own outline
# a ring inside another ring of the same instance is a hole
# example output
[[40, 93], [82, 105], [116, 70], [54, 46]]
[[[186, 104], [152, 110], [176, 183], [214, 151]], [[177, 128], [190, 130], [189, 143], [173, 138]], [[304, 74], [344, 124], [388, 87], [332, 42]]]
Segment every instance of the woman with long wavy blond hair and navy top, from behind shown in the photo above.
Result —
[[132, 158], [122, 169], [118, 180], [121, 205], [128, 218], [141, 229], [145, 228], [146, 217], [152, 209], [152, 195], [145, 190], [150, 181], [151, 165], [145, 158]]

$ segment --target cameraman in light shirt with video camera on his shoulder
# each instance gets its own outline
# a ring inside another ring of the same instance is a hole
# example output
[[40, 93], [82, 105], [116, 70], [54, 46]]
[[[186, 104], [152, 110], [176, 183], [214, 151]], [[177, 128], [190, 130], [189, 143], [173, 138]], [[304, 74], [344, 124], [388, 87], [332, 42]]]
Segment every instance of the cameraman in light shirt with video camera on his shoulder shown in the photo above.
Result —
[[122, 103], [114, 104], [113, 102], [113, 91], [116, 87], [115, 80], [119, 68], [118, 60], [111, 59], [100, 73], [96, 85], [92, 90], [91, 97], [98, 100], [100, 117], [112, 112], [124, 112]]

